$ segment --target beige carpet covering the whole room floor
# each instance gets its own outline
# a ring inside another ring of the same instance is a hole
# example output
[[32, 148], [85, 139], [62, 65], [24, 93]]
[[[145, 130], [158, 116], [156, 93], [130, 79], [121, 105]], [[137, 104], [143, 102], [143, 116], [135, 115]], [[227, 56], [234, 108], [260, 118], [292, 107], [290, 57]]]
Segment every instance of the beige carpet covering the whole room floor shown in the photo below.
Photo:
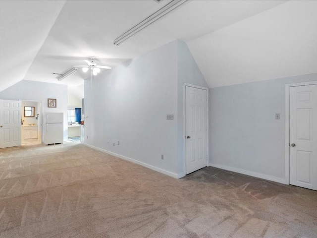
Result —
[[85, 145], [0, 149], [0, 238], [316, 238], [317, 192], [208, 167], [173, 179]]

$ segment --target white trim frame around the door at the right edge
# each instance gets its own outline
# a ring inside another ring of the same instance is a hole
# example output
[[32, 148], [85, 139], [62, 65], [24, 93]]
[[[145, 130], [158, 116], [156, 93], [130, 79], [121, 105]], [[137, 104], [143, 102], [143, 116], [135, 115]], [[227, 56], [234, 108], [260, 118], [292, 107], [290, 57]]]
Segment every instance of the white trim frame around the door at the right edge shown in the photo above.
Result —
[[285, 184], [288, 185], [290, 184], [290, 88], [315, 84], [317, 84], [317, 81], [285, 84]]

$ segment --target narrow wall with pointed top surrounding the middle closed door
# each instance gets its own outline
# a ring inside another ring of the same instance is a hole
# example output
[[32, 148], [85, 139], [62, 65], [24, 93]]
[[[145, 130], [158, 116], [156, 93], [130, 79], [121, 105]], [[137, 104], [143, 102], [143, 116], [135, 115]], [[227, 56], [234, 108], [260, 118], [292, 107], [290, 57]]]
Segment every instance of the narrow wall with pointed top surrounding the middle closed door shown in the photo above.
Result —
[[177, 148], [178, 148], [178, 174], [185, 175], [184, 167], [184, 83], [190, 83], [197, 86], [209, 88], [203, 74], [196, 64], [187, 44], [183, 41], [177, 41], [177, 92], [178, 92], [178, 132], [177, 132]]

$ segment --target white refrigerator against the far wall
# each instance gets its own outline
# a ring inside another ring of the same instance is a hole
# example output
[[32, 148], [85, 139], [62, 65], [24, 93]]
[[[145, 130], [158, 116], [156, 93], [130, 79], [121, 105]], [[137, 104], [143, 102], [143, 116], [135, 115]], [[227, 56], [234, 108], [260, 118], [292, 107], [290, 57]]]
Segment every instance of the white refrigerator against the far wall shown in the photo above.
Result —
[[46, 145], [63, 143], [64, 140], [64, 114], [46, 113], [44, 115], [43, 142]]

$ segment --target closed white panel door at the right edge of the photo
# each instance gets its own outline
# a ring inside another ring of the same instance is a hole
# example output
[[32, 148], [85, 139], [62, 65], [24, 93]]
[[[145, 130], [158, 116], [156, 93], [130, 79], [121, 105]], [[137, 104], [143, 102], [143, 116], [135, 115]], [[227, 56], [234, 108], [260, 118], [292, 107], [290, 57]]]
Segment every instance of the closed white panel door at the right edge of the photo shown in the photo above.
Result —
[[290, 184], [317, 190], [317, 85], [290, 88]]

